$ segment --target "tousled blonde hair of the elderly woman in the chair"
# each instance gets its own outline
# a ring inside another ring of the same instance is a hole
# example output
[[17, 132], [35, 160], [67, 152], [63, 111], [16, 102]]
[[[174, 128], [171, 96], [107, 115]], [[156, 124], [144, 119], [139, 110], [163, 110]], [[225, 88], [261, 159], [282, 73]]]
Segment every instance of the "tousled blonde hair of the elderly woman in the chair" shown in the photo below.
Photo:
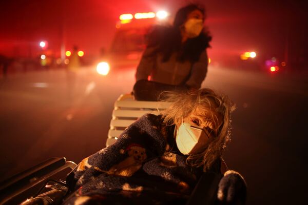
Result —
[[[171, 103], [168, 109], [160, 112], [164, 117], [163, 123], [167, 126], [178, 127], [179, 122], [190, 114], [196, 113], [197, 108], [200, 112], [197, 113], [198, 115], [206, 115], [216, 124], [216, 137], [202, 151], [188, 155], [186, 159], [188, 165], [203, 167], [204, 172], [208, 171], [215, 160], [222, 156], [226, 143], [230, 140], [230, 122], [231, 113], [235, 110], [234, 103], [227, 96], [218, 95], [211, 89], [163, 92], [160, 97], [163, 98], [162, 101]], [[209, 113], [211, 113], [210, 116], [208, 116]]]

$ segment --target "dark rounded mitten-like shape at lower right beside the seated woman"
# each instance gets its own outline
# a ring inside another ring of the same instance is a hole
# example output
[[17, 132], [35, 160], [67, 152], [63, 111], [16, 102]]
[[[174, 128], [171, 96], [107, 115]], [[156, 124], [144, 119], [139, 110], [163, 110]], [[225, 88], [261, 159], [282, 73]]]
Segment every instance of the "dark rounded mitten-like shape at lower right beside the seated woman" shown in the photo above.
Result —
[[244, 178], [236, 171], [226, 171], [218, 185], [218, 201], [223, 204], [245, 204], [246, 194]]

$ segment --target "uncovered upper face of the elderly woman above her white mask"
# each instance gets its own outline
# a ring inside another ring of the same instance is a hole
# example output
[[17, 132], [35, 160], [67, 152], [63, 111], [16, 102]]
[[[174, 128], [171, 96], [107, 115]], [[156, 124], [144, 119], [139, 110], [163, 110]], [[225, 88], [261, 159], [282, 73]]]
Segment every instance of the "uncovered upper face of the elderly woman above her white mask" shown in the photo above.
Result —
[[213, 130], [217, 133], [219, 126], [222, 122], [222, 117], [219, 113], [213, 110], [205, 110], [197, 108], [194, 112], [183, 119], [183, 122], [188, 122], [192, 126], [198, 126], [206, 128], [207, 130]]

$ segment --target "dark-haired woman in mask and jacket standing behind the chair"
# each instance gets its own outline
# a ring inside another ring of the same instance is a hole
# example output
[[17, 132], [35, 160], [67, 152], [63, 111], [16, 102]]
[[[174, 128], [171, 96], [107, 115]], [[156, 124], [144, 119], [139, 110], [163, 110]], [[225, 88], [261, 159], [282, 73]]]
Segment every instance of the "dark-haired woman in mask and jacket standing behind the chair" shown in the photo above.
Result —
[[[205, 11], [191, 4], [181, 8], [171, 27], [156, 27], [136, 72], [134, 95], [140, 100], [157, 99], [164, 90], [199, 89], [207, 73], [211, 36], [204, 29]], [[150, 76], [150, 82], [147, 81]], [[155, 82], [155, 83], [153, 83]], [[149, 92], [155, 90], [149, 96]]]

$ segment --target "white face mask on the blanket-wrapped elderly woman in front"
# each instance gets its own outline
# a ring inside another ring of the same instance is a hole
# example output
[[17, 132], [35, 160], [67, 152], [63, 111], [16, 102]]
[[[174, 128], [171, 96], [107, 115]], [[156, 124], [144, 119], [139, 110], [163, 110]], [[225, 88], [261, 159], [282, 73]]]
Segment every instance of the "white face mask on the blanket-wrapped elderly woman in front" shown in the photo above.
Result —
[[178, 149], [182, 154], [194, 154], [206, 145], [209, 133], [200, 127], [182, 122], [176, 136]]

